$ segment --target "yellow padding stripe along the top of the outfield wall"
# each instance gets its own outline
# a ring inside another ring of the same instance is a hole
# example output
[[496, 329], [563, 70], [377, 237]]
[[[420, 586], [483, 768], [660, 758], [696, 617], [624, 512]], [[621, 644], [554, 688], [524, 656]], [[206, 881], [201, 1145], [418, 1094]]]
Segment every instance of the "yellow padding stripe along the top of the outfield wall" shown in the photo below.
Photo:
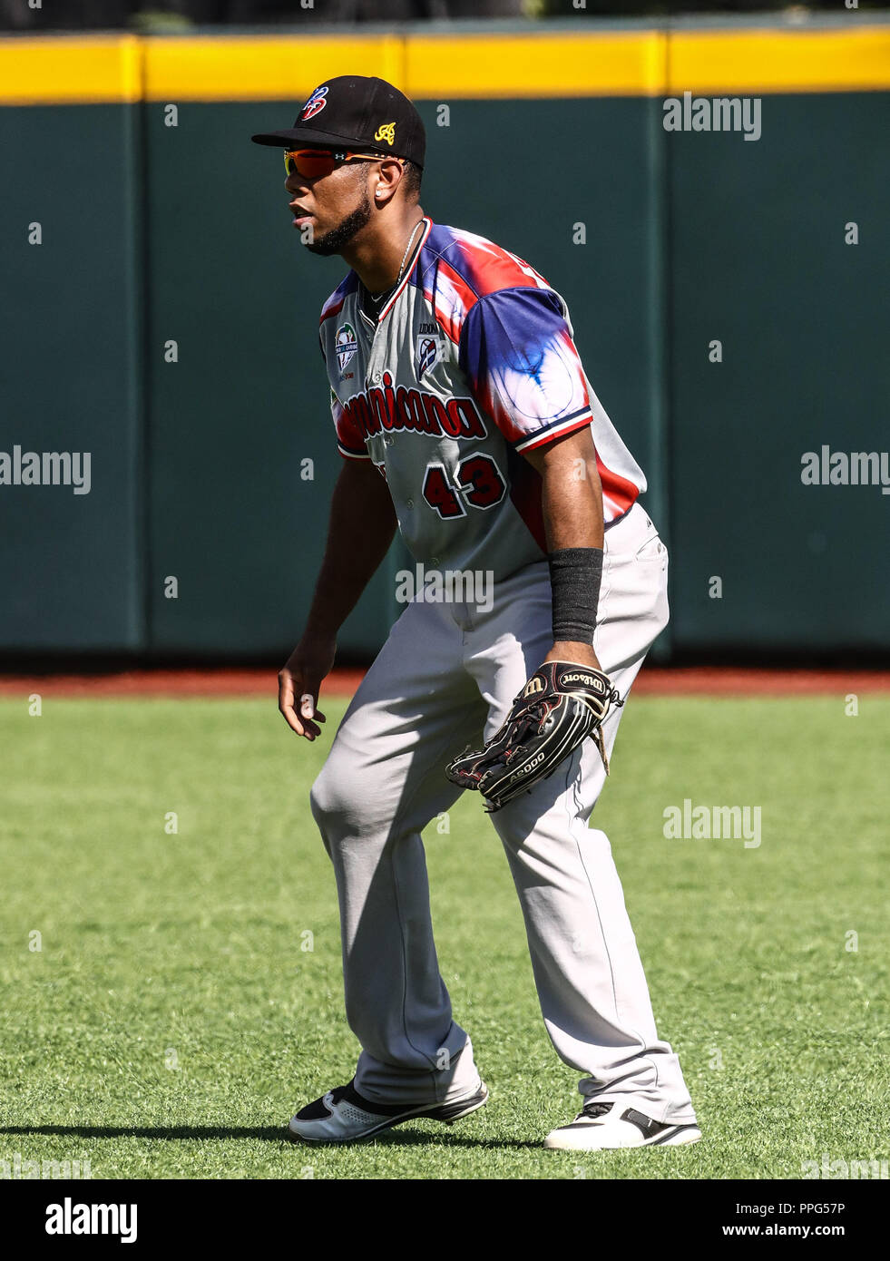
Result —
[[417, 100], [890, 88], [890, 26], [0, 39], [0, 103], [303, 101], [334, 74]]

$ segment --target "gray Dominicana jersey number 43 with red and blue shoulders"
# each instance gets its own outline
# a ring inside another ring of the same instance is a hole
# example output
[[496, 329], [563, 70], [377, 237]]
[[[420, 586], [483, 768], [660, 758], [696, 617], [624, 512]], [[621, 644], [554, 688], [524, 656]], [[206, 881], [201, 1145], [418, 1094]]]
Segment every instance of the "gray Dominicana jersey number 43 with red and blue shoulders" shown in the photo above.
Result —
[[386, 478], [415, 560], [495, 581], [541, 560], [541, 479], [523, 451], [592, 427], [606, 528], [645, 479], [587, 381], [562, 296], [484, 237], [422, 221], [379, 314], [354, 271], [324, 304], [340, 454]]

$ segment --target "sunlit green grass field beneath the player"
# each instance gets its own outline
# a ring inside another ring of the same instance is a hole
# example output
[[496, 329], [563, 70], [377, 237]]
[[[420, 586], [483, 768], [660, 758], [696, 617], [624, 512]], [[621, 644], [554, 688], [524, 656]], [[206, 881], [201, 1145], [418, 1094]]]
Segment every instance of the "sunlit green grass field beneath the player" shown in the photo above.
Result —
[[[324, 707], [330, 733], [343, 705]], [[442, 975], [492, 1098], [454, 1127], [313, 1149], [282, 1127], [358, 1053], [308, 810], [330, 735], [298, 740], [271, 697], [44, 700], [39, 718], [5, 700], [0, 734], [0, 1160], [87, 1159], [93, 1178], [785, 1179], [823, 1153], [890, 1156], [890, 699], [853, 718], [842, 697], [628, 706], [595, 821], [705, 1141], [589, 1156], [540, 1146], [579, 1074], [546, 1037], [478, 798], [427, 852]], [[662, 812], [687, 797], [760, 806], [760, 846], [666, 840]]]

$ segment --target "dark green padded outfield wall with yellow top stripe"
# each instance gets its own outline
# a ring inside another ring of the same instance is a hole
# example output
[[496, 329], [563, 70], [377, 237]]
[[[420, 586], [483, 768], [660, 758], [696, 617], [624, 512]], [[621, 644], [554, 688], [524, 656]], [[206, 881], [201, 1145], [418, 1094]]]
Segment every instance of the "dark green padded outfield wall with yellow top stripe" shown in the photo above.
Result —
[[[250, 135], [348, 72], [417, 101], [426, 213], [566, 298], [669, 545], [661, 656], [885, 648], [890, 493], [840, 456], [890, 445], [890, 24], [850, 15], [0, 40], [0, 453], [91, 453], [88, 493], [0, 484], [10, 660], [277, 660], [299, 636], [343, 264], [301, 250]], [[758, 137], [667, 131], [687, 92], [758, 101]], [[808, 451], [835, 484], [802, 482]], [[343, 649], [379, 647], [405, 560]]]

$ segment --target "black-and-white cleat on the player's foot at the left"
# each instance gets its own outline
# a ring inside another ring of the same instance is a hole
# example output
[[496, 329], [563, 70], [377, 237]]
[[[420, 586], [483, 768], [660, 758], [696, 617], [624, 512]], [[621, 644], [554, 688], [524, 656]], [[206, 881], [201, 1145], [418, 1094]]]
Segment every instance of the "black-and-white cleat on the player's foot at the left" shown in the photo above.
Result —
[[[353, 1078], [354, 1081], [354, 1078]], [[402, 1121], [429, 1117], [451, 1125], [461, 1116], [469, 1116], [488, 1101], [488, 1087], [483, 1081], [471, 1095], [451, 1100], [449, 1103], [405, 1105], [374, 1103], [358, 1093], [353, 1082], [337, 1086], [320, 1100], [308, 1103], [292, 1117], [287, 1137], [304, 1142], [355, 1142], [372, 1139], [382, 1130], [390, 1130]]]

